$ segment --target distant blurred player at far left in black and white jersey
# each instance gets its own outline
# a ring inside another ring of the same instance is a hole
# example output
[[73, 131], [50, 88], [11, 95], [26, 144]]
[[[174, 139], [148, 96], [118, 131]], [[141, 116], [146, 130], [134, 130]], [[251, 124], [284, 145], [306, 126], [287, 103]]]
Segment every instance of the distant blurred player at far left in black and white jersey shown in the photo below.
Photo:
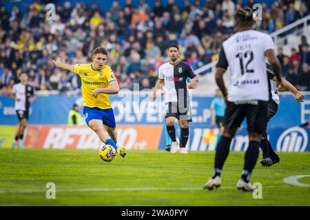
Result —
[[21, 82], [13, 86], [11, 94], [11, 98], [15, 100], [15, 111], [19, 118], [19, 127], [12, 143], [12, 149], [16, 149], [17, 146], [21, 149], [25, 148], [23, 133], [27, 126], [30, 103], [36, 100], [34, 88], [27, 84], [28, 76], [25, 72], [19, 74], [19, 80]]

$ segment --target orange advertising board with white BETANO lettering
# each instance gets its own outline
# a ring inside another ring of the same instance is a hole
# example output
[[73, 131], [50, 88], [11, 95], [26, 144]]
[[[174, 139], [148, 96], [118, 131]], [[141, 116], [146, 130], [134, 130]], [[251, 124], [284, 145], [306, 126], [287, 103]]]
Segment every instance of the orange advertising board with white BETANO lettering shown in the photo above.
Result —
[[[157, 149], [162, 126], [118, 126], [118, 144], [132, 150]], [[87, 126], [30, 125], [25, 136], [26, 148], [99, 149], [101, 140]]]

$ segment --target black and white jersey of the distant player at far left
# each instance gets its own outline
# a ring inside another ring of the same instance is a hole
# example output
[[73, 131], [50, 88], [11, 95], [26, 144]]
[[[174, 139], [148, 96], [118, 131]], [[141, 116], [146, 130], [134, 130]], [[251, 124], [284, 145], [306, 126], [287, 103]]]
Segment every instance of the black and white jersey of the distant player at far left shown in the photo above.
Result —
[[28, 111], [30, 107], [29, 98], [34, 96], [34, 88], [31, 85], [17, 83], [12, 88], [12, 93], [19, 100], [15, 100], [15, 110]]

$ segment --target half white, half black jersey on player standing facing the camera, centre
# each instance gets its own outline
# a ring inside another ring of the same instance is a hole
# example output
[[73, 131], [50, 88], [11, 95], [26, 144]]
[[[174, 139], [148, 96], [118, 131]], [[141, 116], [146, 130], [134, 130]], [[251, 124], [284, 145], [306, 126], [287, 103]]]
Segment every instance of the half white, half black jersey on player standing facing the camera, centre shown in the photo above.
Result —
[[180, 102], [188, 100], [187, 77], [196, 75], [192, 67], [180, 61], [176, 65], [167, 62], [158, 69], [158, 78], [165, 80], [165, 102]]

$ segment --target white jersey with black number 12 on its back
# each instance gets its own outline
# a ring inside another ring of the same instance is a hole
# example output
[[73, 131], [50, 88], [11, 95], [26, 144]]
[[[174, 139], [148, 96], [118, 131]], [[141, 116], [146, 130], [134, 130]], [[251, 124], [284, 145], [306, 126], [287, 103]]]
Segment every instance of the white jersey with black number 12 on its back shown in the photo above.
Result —
[[230, 67], [230, 102], [269, 100], [265, 52], [274, 50], [271, 36], [255, 30], [237, 32], [223, 42], [216, 67]]

